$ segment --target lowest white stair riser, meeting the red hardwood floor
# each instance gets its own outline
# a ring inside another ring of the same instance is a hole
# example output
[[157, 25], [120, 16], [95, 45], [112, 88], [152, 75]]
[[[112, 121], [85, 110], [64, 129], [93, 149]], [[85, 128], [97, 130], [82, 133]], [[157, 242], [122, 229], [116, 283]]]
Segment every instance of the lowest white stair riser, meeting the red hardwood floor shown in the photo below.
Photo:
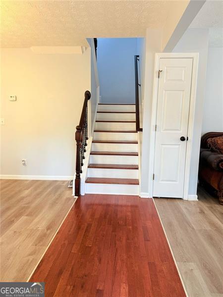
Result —
[[111, 195], [139, 195], [138, 185], [85, 184], [85, 193]]

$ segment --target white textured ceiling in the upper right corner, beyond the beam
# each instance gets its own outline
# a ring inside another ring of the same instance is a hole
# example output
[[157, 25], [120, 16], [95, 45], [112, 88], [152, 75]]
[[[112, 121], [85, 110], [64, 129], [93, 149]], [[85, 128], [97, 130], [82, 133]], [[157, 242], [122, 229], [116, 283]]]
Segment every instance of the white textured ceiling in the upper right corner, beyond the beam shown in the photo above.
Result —
[[206, 1], [190, 28], [209, 28], [209, 45], [223, 47], [223, 1]]

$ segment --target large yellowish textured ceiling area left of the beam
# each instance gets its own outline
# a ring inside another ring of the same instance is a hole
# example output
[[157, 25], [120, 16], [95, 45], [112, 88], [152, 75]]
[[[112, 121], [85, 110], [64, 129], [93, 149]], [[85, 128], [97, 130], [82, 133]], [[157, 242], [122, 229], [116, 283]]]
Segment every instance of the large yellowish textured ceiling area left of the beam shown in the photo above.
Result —
[[1, 1], [1, 47], [87, 46], [86, 38], [143, 37], [163, 28], [168, 1]]

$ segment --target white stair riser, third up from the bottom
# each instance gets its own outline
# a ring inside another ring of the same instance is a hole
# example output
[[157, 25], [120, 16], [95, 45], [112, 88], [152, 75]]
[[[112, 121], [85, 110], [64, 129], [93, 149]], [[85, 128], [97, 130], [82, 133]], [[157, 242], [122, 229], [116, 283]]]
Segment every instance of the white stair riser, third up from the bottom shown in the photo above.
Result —
[[138, 165], [138, 156], [90, 155], [90, 164]]

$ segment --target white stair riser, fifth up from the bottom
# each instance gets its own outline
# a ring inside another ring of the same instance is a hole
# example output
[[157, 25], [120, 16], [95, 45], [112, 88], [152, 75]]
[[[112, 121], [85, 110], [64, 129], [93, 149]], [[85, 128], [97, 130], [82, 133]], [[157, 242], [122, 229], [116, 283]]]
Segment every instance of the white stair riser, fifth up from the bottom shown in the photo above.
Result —
[[94, 132], [94, 140], [137, 140], [137, 133]]

